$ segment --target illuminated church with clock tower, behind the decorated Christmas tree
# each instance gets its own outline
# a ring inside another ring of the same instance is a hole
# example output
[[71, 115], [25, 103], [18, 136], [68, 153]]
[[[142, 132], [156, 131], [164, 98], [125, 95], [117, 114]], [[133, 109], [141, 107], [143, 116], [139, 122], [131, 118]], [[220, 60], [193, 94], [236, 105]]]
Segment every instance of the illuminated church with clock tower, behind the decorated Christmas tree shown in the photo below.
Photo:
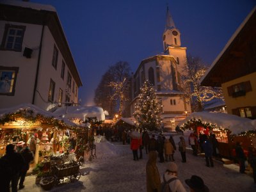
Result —
[[186, 47], [181, 47], [180, 31], [175, 27], [167, 8], [163, 33], [164, 52], [142, 60], [131, 79], [131, 99], [125, 105], [125, 116], [132, 116], [136, 97], [145, 80], [156, 88], [156, 96], [162, 106], [164, 127], [173, 130], [175, 125], [191, 113], [190, 102], [180, 91], [180, 75], [186, 66]]

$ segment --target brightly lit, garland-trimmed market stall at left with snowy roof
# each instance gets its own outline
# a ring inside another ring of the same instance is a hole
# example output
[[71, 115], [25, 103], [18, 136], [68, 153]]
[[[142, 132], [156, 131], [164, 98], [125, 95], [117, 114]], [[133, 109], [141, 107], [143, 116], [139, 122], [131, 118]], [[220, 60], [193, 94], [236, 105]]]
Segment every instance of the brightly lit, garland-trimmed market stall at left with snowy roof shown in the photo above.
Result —
[[68, 149], [68, 138], [75, 134], [73, 122], [32, 104], [0, 109], [0, 156], [9, 143], [24, 141], [35, 155], [35, 164]]

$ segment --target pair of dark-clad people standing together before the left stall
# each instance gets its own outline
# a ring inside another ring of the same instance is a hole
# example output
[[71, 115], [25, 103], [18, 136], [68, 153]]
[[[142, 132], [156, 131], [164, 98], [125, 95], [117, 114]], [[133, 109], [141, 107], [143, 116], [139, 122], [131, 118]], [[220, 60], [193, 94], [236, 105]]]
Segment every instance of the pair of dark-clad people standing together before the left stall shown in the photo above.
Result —
[[12, 183], [12, 192], [18, 190], [18, 184], [19, 189], [23, 189], [29, 163], [33, 159], [33, 152], [23, 141], [20, 141], [17, 145], [8, 144], [6, 154], [0, 159], [0, 191], [10, 191], [10, 183]]

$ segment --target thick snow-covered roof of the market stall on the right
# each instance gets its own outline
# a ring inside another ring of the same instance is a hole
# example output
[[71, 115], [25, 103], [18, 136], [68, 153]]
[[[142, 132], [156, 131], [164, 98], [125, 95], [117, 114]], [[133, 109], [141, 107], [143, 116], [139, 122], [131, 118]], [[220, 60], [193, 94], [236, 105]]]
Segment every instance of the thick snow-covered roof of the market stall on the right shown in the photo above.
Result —
[[178, 125], [183, 125], [192, 118], [201, 119], [202, 122], [216, 124], [221, 129], [229, 129], [232, 134], [239, 134], [246, 131], [256, 131], [256, 120], [243, 118], [227, 113], [195, 112], [182, 120]]

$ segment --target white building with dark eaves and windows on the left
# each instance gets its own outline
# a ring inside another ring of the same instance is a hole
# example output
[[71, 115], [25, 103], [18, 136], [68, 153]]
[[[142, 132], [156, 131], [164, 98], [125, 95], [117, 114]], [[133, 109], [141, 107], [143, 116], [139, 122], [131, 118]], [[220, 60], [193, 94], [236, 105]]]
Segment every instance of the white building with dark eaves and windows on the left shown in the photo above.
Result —
[[82, 82], [55, 8], [1, 1], [0, 12], [0, 108], [77, 103]]

